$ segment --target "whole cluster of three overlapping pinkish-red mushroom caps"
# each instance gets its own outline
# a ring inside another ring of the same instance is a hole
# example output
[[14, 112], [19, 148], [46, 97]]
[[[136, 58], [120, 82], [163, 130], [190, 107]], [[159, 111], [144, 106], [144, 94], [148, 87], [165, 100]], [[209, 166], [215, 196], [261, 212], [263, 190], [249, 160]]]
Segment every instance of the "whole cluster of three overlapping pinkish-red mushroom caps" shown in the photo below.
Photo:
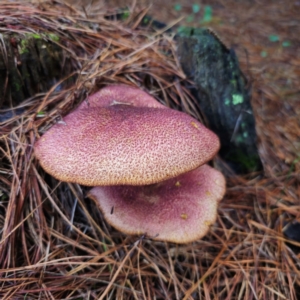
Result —
[[136, 88], [106, 87], [47, 131], [34, 151], [57, 179], [96, 186], [88, 196], [120, 231], [186, 243], [205, 235], [225, 192], [223, 175], [204, 165], [219, 140], [157, 103]]

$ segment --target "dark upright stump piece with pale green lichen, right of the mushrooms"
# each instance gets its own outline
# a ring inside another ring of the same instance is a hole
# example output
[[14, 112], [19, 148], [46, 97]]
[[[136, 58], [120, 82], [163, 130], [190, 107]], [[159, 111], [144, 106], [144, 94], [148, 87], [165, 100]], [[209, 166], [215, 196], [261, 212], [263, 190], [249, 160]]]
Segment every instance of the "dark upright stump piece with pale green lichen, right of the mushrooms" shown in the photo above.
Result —
[[178, 56], [208, 126], [221, 140], [220, 156], [238, 173], [261, 170], [250, 88], [233, 49], [208, 29], [177, 36]]

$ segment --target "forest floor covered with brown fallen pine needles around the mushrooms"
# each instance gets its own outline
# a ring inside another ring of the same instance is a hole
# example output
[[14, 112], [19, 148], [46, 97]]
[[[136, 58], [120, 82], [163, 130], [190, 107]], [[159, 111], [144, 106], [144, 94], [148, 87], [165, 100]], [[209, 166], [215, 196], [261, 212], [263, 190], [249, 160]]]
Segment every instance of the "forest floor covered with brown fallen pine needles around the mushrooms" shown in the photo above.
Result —
[[[103, 220], [99, 209], [84, 197], [85, 188], [49, 179], [28, 150], [37, 132], [41, 134], [43, 126], [49, 125], [49, 117], [34, 118], [33, 111], [36, 116], [49, 110], [52, 117], [70, 111], [70, 102], [64, 100], [70, 91], [48, 95], [40, 102], [30, 99], [26, 102], [28, 115], [1, 124], [5, 130], [0, 141], [0, 298], [300, 299], [300, 2], [68, 0], [68, 8], [61, 8], [59, 1], [45, 6], [41, 3], [46, 1], [31, 2], [37, 8], [26, 10], [34, 12], [28, 18], [39, 20], [47, 29], [68, 20], [68, 26], [59, 27], [57, 34], [68, 39], [70, 49], [86, 49], [86, 57], [80, 57], [86, 68], [82, 74], [101, 74], [104, 83], [138, 81], [132, 75], [138, 74], [134, 68], [146, 61], [150, 71], [152, 63], [156, 64], [153, 69], [158, 69], [160, 78], [166, 69], [157, 67], [163, 65], [159, 56], [148, 61], [147, 51], [152, 53], [152, 48], [145, 46], [144, 56], [126, 48], [130, 43], [123, 38], [127, 36], [133, 46], [148, 45], [141, 42], [146, 36], [141, 31], [136, 38], [138, 24], [109, 24], [99, 17], [103, 32], [109, 34], [107, 42], [102, 31], [95, 33], [86, 25], [85, 31], [83, 27], [79, 30], [76, 22], [96, 22], [97, 13], [116, 12], [127, 5], [132, 14], [142, 10], [174, 32], [180, 26], [211, 28], [235, 50], [251, 82], [264, 170], [227, 178], [217, 221], [203, 239], [173, 244], [130, 237]], [[0, 12], [6, 11], [1, 5]], [[27, 22], [31, 30], [29, 19], [25, 22], [14, 9], [9, 13], [19, 23], [11, 28], [19, 30], [15, 28]], [[7, 21], [9, 16], [5, 17]], [[65, 34], [68, 30], [71, 38]], [[97, 39], [107, 42], [109, 50], [119, 49], [108, 51], [101, 66], [89, 64], [93, 59], [96, 62]], [[164, 41], [170, 42], [167, 34]], [[128, 57], [136, 55], [136, 66], [126, 69], [122, 65], [125, 75], [113, 66], [125, 64], [126, 59], [114, 56], [122, 51]], [[109, 74], [101, 69], [106, 63], [111, 66]], [[181, 76], [180, 70], [172, 72], [172, 76]], [[93, 76], [83, 77], [94, 82]], [[82, 82], [78, 86], [87, 86]], [[175, 87], [168, 91], [174, 94]], [[289, 226], [295, 230], [287, 234]]]

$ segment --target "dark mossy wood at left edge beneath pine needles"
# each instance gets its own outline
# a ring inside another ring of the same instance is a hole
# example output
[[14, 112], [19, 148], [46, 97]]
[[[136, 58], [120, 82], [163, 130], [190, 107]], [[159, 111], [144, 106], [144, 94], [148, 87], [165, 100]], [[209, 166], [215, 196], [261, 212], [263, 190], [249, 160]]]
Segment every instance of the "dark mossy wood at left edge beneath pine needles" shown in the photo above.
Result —
[[29, 97], [48, 92], [71, 72], [67, 60], [54, 34], [3, 34], [0, 107], [15, 107]]

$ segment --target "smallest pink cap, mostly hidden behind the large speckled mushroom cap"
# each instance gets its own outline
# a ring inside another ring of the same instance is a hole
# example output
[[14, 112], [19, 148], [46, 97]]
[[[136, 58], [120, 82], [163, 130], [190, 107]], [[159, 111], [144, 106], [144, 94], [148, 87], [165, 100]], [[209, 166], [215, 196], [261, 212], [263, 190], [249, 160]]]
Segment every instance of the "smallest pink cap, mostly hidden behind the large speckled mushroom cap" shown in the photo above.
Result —
[[108, 85], [83, 101], [79, 109], [126, 104], [138, 107], [167, 108], [141, 89], [127, 85]]

